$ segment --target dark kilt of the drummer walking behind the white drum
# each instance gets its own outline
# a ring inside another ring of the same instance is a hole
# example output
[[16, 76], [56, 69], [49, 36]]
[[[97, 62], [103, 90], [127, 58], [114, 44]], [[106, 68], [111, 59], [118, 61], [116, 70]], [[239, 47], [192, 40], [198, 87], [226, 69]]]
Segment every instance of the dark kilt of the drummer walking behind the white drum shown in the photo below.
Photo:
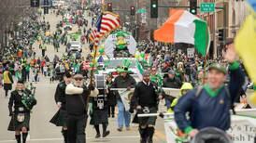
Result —
[[93, 110], [90, 124], [97, 125], [101, 123], [108, 123], [108, 110]]

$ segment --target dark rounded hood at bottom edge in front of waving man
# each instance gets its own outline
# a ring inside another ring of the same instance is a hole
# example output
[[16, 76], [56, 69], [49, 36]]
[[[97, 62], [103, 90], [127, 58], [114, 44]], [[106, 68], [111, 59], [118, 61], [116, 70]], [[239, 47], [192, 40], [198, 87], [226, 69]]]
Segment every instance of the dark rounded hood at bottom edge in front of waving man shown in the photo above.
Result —
[[233, 143], [231, 137], [216, 127], [206, 127], [192, 138], [191, 143]]

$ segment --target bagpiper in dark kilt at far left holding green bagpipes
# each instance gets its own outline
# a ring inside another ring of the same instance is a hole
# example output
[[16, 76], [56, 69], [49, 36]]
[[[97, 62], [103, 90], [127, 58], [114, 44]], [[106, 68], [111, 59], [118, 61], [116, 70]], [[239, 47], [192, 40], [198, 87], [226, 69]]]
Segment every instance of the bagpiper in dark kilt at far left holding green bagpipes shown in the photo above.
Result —
[[21, 143], [21, 135], [22, 143], [26, 142], [30, 129], [30, 112], [35, 105], [36, 99], [32, 92], [25, 88], [23, 81], [18, 81], [16, 89], [11, 92], [8, 102], [11, 120], [7, 129], [8, 131], [15, 131], [17, 143]]

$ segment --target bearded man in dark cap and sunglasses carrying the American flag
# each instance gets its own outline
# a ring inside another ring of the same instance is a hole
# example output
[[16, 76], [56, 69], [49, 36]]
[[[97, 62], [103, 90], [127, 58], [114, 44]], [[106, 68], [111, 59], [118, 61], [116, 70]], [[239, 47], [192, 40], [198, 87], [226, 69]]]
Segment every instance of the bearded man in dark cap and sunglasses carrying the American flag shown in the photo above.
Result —
[[[83, 81], [81, 74], [73, 77], [73, 84], [65, 87], [65, 108], [67, 112], [67, 140], [68, 143], [85, 143], [85, 127], [87, 123], [87, 104], [91, 90]], [[93, 90], [93, 87], [90, 86]]]

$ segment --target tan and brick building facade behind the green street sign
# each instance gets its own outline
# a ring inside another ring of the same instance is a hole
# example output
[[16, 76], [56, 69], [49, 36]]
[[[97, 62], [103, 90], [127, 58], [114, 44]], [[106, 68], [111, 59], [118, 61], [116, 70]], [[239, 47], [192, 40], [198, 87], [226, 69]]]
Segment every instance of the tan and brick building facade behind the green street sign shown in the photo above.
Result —
[[[215, 3], [215, 12], [200, 13], [199, 17], [206, 20], [211, 32], [211, 45], [209, 49], [210, 58], [221, 56], [223, 43], [226, 38], [235, 37], [249, 11], [245, 0], [198, 0], [201, 3]], [[219, 32], [224, 31], [224, 40], [220, 41]]]

